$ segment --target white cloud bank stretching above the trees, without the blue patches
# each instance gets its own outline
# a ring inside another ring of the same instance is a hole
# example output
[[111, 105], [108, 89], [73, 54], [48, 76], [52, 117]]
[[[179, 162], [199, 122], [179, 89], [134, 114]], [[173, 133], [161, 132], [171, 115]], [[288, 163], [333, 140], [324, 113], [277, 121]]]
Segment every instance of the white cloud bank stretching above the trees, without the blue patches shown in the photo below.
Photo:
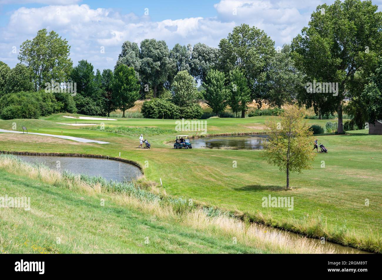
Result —
[[[165, 40], [170, 48], [175, 43], [186, 45], [198, 42], [217, 47], [220, 39], [227, 37], [233, 27], [242, 23], [263, 29], [275, 41], [276, 46], [282, 46], [308, 24], [311, 12], [320, 2], [221, 0], [214, 5], [217, 11], [214, 18], [163, 21], [152, 21], [149, 16], [137, 16], [134, 13], [120, 14], [113, 9], [91, 9], [88, 5], [23, 7], [13, 11], [8, 25], [0, 29], [0, 60], [11, 67], [15, 66], [18, 60], [12, 47], [16, 46], [18, 50], [23, 41], [32, 39], [42, 28], [54, 30], [68, 40], [75, 65], [79, 60], [87, 59], [99, 69], [114, 67], [125, 40], [139, 44], [143, 39], [155, 38]], [[101, 47], [104, 47], [104, 53], [101, 53]]]

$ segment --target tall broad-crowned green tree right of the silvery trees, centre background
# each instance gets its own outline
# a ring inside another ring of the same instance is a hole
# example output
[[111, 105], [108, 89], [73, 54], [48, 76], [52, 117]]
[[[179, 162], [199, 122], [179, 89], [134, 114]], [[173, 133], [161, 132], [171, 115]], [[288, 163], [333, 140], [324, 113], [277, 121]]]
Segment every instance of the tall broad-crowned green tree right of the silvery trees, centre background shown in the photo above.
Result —
[[[261, 104], [265, 93], [266, 72], [275, 55], [274, 41], [262, 30], [248, 24], [236, 26], [219, 43], [218, 68], [226, 75], [236, 67], [243, 71], [251, 98]], [[245, 116], [245, 111], [241, 112]]]

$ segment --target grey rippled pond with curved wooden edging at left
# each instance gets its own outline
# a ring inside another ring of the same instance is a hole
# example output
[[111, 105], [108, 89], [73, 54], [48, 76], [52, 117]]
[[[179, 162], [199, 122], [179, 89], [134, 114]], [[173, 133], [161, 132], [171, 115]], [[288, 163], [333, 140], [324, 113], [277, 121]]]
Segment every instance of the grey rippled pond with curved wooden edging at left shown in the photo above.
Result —
[[106, 180], [128, 181], [136, 179], [142, 174], [141, 170], [129, 163], [102, 158], [86, 158], [76, 156], [24, 156], [18, 158], [28, 163], [44, 163], [50, 169], [68, 170], [74, 174], [86, 174], [90, 176], [101, 176]]

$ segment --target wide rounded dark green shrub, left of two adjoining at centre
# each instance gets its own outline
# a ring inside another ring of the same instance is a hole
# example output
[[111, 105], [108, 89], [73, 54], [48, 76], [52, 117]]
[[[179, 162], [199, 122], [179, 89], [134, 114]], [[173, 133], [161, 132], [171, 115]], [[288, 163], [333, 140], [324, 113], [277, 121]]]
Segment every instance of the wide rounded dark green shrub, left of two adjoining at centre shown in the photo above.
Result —
[[180, 107], [160, 98], [146, 100], [142, 104], [141, 113], [148, 119], [178, 119]]

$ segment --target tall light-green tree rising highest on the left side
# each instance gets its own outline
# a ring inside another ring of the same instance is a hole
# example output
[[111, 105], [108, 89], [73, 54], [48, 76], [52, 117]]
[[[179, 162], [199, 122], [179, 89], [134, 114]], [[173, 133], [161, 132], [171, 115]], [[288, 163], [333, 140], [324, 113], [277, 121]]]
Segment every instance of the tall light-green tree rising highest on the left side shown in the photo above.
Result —
[[28, 66], [35, 90], [44, 89], [45, 82], [67, 82], [73, 62], [66, 39], [46, 29], [37, 32], [32, 40], [20, 46], [19, 61]]

